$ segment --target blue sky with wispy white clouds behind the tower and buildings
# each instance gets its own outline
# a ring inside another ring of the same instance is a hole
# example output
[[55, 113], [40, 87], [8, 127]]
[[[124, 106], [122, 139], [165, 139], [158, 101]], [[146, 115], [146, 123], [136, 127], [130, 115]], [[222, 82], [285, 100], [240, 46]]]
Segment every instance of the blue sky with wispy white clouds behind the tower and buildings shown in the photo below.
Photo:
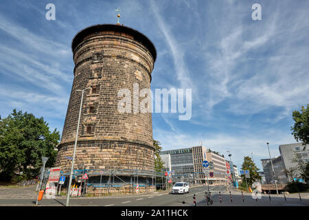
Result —
[[[45, 19], [54, 3], [56, 20]], [[253, 21], [253, 3], [262, 20]], [[309, 102], [309, 1], [0, 1], [0, 113], [43, 116], [60, 133], [73, 82], [71, 41], [120, 23], [155, 44], [152, 90], [192, 88], [192, 118], [153, 113], [163, 150], [200, 141], [241, 166], [295, 142], [292, 111]]]

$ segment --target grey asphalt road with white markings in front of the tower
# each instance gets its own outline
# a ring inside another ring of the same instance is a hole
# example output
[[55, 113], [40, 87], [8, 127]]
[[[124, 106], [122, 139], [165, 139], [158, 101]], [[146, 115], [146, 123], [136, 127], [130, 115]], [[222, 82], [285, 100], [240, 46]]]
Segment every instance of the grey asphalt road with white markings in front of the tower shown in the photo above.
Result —
[[[261, 199], [255, 201], [251, 193], [244, 195], [242, 200], [241, 192], [232, 190], [231, 197], [229, 191], [225, 191], [225, 186], [209, 186], [211, 191], [211, 198], [214, 203], [209, 206], [309, 206], [309, 193], [305, 194], [303, 198], [299, 199], [298, 195], [271, 195], [271, 201], [268, 195], [262, 195]], [[168, 194], [168, 192], [153, 192], [146, 195], [130, 195], [130, 196], [115, 196], [115, 197], [81, 197], [71, 198], [70, 206], [194, 206], [193, 196], [196, 195], [197, 206], [207, 206], [205, 199], [205, 191], [207, 187], [198, 186], [190, 188], [190, 193], [182, 194]], [[221, 201], [220, 195], [221, 192]], [[231, 201], [232, 199], [232, 201]], [[65, 206], [67, 197], [56, 197], [56, 199], [43, 199], [38, 202], [38, 206]], [[34, 206], [36, 199], [12, 197], [1, 198], [0, 206]]]

